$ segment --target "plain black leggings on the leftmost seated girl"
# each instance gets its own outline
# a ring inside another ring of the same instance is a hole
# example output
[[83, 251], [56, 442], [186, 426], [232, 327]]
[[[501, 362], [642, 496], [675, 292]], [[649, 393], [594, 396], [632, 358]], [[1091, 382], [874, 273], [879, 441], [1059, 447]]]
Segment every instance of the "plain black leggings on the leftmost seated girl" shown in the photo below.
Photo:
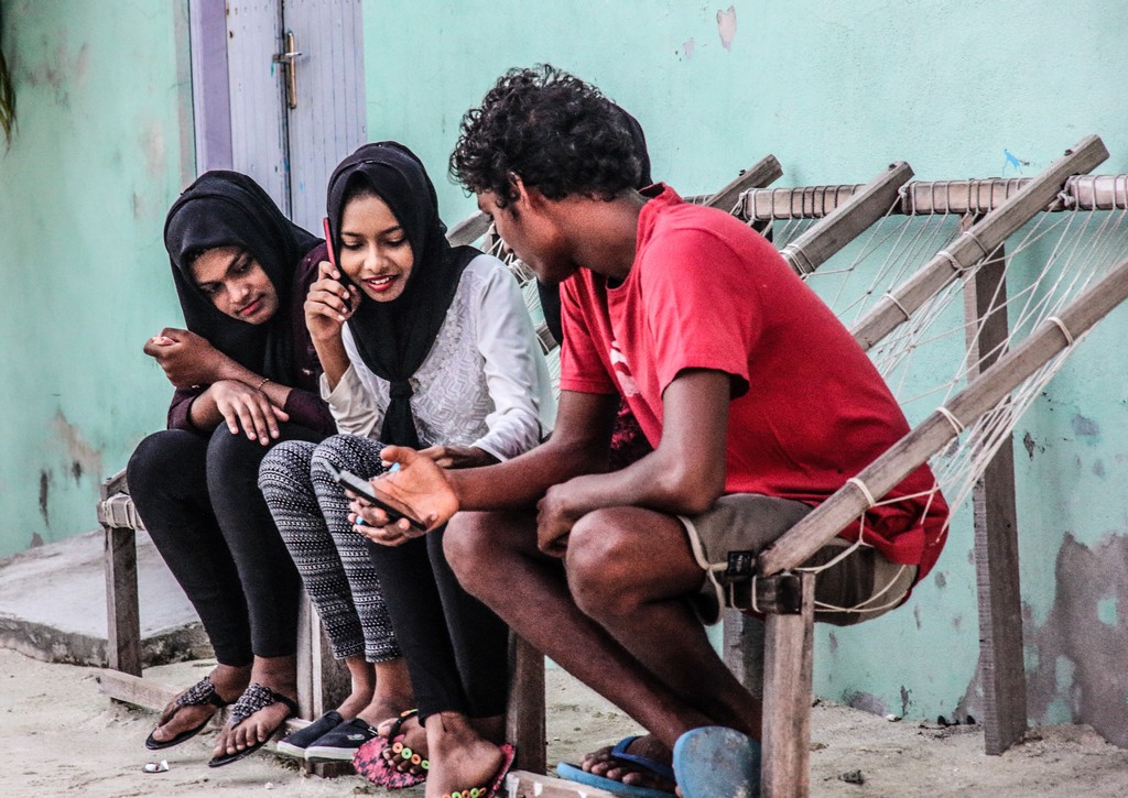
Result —
[[[279, 432], [279, 441], [325, 437], [296, 424]], [[146, 529], [223, 665], [298, 647], [301, 579], [258, 490], [267, 451], [226, 424], [210, 437], [165, 429], [141, 442], [126, 472]]]

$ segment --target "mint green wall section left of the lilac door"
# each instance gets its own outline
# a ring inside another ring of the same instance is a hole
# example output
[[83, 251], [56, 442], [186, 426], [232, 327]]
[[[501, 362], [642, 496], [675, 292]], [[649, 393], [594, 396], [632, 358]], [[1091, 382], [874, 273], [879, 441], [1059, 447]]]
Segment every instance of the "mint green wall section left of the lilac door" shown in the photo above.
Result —
[[192, 117], [184, 2], [0, 1], [2, 556], [96, 527], [99, 481], [164, 424], [141, 345], [180, 318], [161, 227]]

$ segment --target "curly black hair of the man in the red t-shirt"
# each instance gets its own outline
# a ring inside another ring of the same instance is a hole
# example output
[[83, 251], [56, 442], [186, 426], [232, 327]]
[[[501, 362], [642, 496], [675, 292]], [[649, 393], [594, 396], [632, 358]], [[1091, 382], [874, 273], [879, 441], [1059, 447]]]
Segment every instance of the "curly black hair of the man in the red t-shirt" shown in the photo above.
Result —
[[629, 117], [599, 89], [549, 64], [512, 69], [462, 116], [450, 174], [467, 189], [517, 197], [513, 176], [549, 200], [611, 200], [643, 165]]

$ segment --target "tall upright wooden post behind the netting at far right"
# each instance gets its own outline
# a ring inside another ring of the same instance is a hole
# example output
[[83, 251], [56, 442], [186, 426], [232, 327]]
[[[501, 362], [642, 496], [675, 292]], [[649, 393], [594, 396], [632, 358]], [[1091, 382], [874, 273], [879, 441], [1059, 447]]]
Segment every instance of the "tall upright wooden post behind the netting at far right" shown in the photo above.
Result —
[[[971, 219], [966, 218], [966, 225]], [[988, 371], [1008, 338], [1003, 248], [963, 285], [968, 321], [968, 379]], [[979, 595], [979, 666], [984, 685], [986, 750], [1002, 754], [1026, 730], [1022, 657], [1019, 526], [1011, 435], [972, 490], [976, 583]]]

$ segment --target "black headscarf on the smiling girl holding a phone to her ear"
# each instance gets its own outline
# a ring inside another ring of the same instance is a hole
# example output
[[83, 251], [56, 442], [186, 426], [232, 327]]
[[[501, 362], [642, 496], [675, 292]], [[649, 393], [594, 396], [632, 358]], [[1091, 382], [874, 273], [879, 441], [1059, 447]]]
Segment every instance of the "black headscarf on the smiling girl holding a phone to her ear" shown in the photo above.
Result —
[[345, 197], [358, 184], [370, 187], [391, 209], [412, 247], [414, 265], [404, 292], [390, 302], [377, 302], [361, 291], [360, 307], [347, 323], [361, 360], [390, 383], [380, 440], [418, 447], [408, 380], [431, 352], [462, 269], [481, 252], [450, 246], [423, 162], [403, 144], [381, 141], [361, 147], [329, 178], [329, 246], [335, 254], [341, 252]]

